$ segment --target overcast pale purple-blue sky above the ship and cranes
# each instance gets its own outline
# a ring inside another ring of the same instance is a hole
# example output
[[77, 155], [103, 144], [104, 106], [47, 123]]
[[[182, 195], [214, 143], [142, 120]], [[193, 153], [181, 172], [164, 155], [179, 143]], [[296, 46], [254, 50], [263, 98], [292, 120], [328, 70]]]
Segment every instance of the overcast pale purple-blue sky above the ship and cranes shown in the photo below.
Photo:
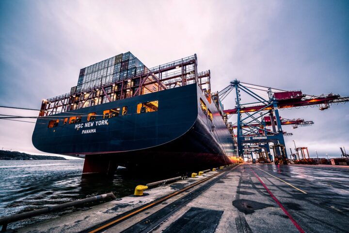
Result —
[[[307, 94], [349, 96], [349, 1], [1, 0], [0, 105], [38, 109], [79, 70], [131, 51], [147, 67], [196, 53], [212, 90], [238, 79]], [[234, 96], [223, 101], [234, 108]], [[37, 112], [0, 109], [0, 114]], [[349, 151], [349, 104], [280, 111], [313, 120], [284, 131], [311, 156]], [[0, 120], [0, 149], [40, 153], [34, 124]], [[289, 149], [287, 149], [289, 150]]]

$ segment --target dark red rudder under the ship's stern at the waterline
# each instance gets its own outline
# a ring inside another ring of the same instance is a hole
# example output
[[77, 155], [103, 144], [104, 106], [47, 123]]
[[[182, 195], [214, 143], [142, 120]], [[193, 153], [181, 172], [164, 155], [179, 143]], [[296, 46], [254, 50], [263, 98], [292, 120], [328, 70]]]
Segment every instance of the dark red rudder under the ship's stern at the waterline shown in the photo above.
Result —
[[86, 155], [82, 176], [113, 176], [116, 168], [117, 164], [110, 156]]

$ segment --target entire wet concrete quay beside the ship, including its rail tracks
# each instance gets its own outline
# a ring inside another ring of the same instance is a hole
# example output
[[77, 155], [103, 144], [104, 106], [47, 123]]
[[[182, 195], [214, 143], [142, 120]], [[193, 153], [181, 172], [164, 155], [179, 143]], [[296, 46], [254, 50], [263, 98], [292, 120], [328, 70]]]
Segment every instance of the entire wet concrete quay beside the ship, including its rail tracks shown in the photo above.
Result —
[[348, 232], [349, 167], [332, 167], [221, 167], [16, 232]]

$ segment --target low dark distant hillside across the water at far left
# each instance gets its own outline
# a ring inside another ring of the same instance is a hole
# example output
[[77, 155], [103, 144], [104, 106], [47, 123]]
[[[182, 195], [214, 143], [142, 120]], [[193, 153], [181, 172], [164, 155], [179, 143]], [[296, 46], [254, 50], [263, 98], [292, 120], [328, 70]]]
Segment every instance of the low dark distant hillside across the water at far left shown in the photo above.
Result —
[[51, 155], [32, 155], [19, 151], [0, 150], [0, 160], [66, 160], [63, 157]]

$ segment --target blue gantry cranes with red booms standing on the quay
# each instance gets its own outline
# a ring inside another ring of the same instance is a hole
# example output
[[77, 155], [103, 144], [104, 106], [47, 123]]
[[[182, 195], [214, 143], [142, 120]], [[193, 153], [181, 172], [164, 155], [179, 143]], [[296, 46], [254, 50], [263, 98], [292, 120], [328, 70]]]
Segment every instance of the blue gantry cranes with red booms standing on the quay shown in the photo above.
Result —
[[[235, 90], [235, 91], [233, 91]], [[262, 91], [268, 95], [268, 98], [258, 94]], [[238, 80], [230, 82], [222, 91], [218, 92], [220, 100], [224, 100], [230, 93], [235, 93], [236, 107], [234, 109], [224, 110], [226, 118], [229, 115], [237, 114], [237, 122], [231, 125], [232, 129], [236, 129], [235, 141], [237, 143], [238, 155], [243, 157], [244, 154], [262, 152], [261, 149], [269, 153], [270, 149], [274, 150], [275, 163], [286, 164], [287, 152], [285, 150], [284, 135], [290, 135], [283, 131], [282, 125], [292, 125], [293, 128], [298, 126], [309, 126], [314, 124], [313, 121], [304, 121], [302, 119], [283, 119], [279, 115], [279, 109], [306, 107], [316, 105], [319, 110], [323, 111], [330, 108], [332, 104], [345, 103], [349, 101], [349, 97], [341, 97], [340, 95], [306, 95], [297, 91], [286, 91], [251, 83], [243, 83]], [[246, 93], [253, 102], [241, 101], [241, 92]], [[274, 120], [271, 120], [274, 119]], [[268, 130], [266, 126], [271, 126]], [[234, 133], [233, 133], [234, 134]], [[269, 146], [269, 143], [274, 146]], [[252, 148], [255, 147], [255, 148]]]

